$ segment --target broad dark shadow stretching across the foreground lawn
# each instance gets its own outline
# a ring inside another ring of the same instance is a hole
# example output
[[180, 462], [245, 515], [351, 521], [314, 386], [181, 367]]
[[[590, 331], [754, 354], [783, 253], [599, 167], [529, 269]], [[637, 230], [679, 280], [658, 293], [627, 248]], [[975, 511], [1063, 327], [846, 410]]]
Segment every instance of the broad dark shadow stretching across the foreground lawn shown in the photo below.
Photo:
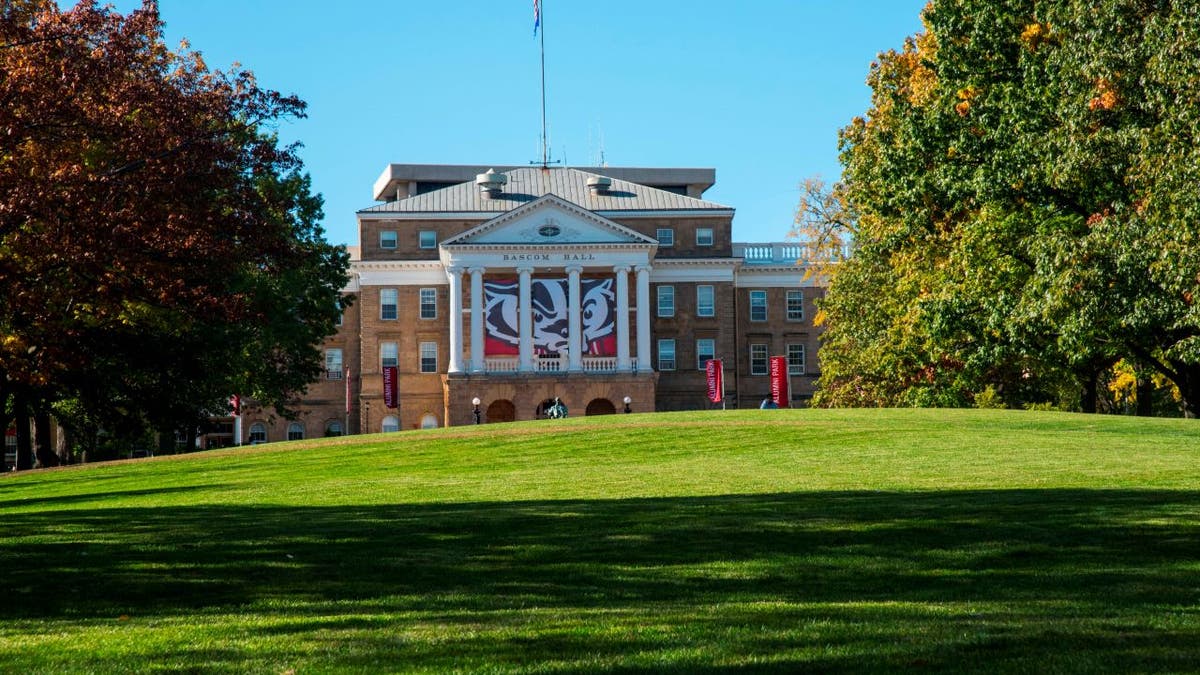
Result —
[[[323, 662], [335, 668], [370, 668], [380, 656], [434, 670], [577, 661], [610, 673], [1200, 663], [1198, 491], [4, 518], [0, 620], [286, 616], [244, 629], [355, 632], [354, 650]], [[64, 527], [94, 536], [41, 537]], [[397, 638], [414, 626], [439, 638]]]

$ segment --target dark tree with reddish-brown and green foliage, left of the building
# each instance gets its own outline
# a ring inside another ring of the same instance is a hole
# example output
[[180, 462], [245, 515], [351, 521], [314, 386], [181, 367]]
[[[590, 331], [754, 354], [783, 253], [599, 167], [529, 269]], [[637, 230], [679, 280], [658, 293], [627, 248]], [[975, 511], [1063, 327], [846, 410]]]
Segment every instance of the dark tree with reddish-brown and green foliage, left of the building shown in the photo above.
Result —
[[168, 49], [150, 0], [6, 10], [0, 398], [112, 428], [194, 425], [234, 392], [286, 408], [348, 264], [271, 132], [304, 103]]

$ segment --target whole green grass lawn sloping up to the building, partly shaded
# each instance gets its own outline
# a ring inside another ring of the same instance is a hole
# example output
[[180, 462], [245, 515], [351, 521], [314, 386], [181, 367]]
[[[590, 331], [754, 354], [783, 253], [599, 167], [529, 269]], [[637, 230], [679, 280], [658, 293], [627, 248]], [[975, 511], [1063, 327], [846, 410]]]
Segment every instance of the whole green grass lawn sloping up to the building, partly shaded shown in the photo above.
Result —
[[1200, 422], [632, 414], [0, 478], [0, 670], [1200, 670]]

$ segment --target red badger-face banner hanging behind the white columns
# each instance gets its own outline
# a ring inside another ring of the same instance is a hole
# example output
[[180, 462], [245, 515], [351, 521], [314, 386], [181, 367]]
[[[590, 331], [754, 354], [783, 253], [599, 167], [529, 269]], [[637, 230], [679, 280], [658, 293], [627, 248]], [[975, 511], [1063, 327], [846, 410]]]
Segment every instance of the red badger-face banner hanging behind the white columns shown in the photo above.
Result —
[[[617, 295], [612, 279], [583, 279], [580, 293], [583, 306], [583, 354], [617, 356]], [[538, 356], [565, 354], [570, 313], [566, 306], [566, 279], [534, 279], [530, 291], [533, 307], [533, 351]], [[517, 280], [484, 282], [484, 353], [490, 357], [517, 356], [521, 339]]]

